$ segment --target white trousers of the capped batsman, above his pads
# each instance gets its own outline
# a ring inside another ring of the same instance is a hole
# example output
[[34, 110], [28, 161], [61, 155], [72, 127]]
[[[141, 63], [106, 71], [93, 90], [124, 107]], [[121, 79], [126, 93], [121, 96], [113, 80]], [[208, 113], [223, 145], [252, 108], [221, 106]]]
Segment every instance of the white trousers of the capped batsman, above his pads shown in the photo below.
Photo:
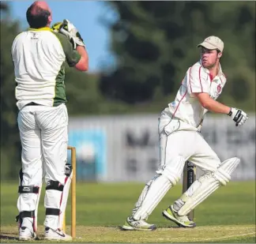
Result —
[[214, 172], [220, 167], [216, 152], [198, 131], [189, 129], [184, 122], [162, 114], [159, 119], [160, 167], [167, 165], [176, 156], [183, 156], [203, 171]]

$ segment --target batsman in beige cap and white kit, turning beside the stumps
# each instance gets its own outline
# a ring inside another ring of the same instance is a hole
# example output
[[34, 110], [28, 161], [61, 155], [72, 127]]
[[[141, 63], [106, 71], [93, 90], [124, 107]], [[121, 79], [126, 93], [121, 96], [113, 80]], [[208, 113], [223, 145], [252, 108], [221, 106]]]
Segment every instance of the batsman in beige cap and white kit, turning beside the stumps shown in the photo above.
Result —
[[160, 167], [142, 190], [123, 230], [156, 229], [156, 225], [147, 220], [168, 190], [179, 182], [187, 160], [204, 174], [162, 214], [181, 227], [195, 227], [196, 223], [188, 218], [189, 212], [220, 186], [226, 186], [239, 165], [237, 157], [221, 162], [199, 133], [207, 111], [229, 116], [235, 126], [243, 126], [248, 117], [244, 111], [216, 101], [227, 81], [220, 66], [223, 41], [209, 36], [198, 47], [200, 60], [187, 69], [175, 100], [159, 118]]

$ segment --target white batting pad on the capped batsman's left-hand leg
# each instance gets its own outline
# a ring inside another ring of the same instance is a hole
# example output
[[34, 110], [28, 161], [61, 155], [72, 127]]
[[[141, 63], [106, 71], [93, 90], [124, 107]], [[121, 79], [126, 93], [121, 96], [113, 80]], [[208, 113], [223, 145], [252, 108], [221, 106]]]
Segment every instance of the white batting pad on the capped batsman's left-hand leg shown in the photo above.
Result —
[[[177, 156], [175, 159], [164, 167], [162, 171], [156, 171], [158, 175], [152, 178], [150, 186], [148, 184], [147, 191], [144, 189], [139, 200], [141, 206], [134, 213], [134, 220], [147, 220], [152, 211], [160, 203], [164, 195], [170, 190], [171, 185], [175, 186], [179, 182], [179, 178], [183, 171], [185, 160], [183, 156]], [[161, 174], [161, 175], [160, 175]], [[146, 191], [146, 192], [145, 192]]]

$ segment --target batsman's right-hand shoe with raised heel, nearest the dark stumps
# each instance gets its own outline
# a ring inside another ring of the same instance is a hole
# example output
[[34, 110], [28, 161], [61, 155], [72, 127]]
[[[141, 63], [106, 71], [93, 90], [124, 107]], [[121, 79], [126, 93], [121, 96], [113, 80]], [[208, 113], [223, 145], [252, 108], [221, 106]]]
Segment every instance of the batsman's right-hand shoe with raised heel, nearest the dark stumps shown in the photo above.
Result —
[[164, 218], [178, 224], [179, 227], [196, 227], [196, 223], [190, 220], [188, 216], [179, 216], [172, 205], [164, 210], [163, 216]]

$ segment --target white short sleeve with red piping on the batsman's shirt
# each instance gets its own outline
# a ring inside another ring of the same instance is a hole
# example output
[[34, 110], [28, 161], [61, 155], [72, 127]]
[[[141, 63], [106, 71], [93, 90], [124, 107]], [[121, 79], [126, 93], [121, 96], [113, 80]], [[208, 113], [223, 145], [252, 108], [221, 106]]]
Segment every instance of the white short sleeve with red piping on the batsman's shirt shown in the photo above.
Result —
[[194, 65], [187, 71], [187, 88], [189, 94], [196, 92], [209, 93], [209, 77], [201, 66]]

